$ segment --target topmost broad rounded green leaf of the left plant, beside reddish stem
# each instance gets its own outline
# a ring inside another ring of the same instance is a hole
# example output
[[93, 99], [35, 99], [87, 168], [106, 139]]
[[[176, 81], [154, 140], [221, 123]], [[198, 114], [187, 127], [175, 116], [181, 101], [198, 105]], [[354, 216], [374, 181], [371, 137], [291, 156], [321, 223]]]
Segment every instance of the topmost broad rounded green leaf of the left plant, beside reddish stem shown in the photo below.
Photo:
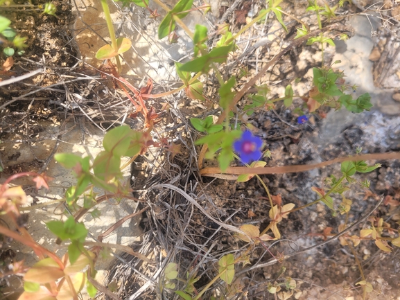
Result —
[[130, 146], [130, 137], [132, 130], [129, 126], [115, 127], [103, 139], [103, 147], [106, 151], [111, 152], [116, 157], [125, 155]]

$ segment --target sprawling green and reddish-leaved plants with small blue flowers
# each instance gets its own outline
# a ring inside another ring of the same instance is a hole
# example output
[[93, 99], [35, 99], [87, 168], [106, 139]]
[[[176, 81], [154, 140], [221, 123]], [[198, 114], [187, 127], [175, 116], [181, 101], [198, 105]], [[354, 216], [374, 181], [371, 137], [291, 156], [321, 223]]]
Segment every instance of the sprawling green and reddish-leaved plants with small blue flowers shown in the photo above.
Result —
[[[302, 104], [296, 108], [296, 112], [299, 114], [297, 123], [300, 125], [306, 123], [308, 116], [318, 113], [322, 107], [331, 107], [336, 110], [345, 107], [345, 109], [354, 113], [371, 109], [372, 104], [369, 101], [369, 94], [363, 94], [354, 99], [352, 91], [356, 87], [345, 85], [345, 81], [343, 80], [345, 74], [341, 71], [333, 70], [331, 66], [324, 64], [324, 46], [325, 44], [333, 44], [333, 40], [329, 36], [329, 30], [333, 30], [333, 27], [330, 27], [329, 24], [323, 26], [322, 20], [329, 21], [336, 18], [335, 11], [339, 6], [343, 5], [344, 1], [340, 1], [338, 6], [333, 7], [330, 7], [328, 4], [321, 7], [318, 6], [317, 1], [310, 1], [307, 10], [315, 12], [318, 19], [318, 26], [312, 28], [312, 24], [304, 24], [304, 22], [285, 12], [279, 6], [281, 0], [268, 0], [265, 3], [266, 9], [261, 10], [259, 15], [250, 21], [249, 24], [243, 26], [238, 33], [229, 31], [229, 26], [226, 24], [220, 26], [218, 29], [218, 36], [220, 38], [211, 47], [207, 43], [209, 41], [207, 27], [197, 25], [194, 32], [191, 32], [182, 21], [193, 10], [207, 12], [210, 7], [207, 3], [203, 6], [193, 8], [193, 0], [180, 0], [170, 9], [162, 2], [159, 2], [159, 0], [155, 0], [155, 2], [159, 3], [166, 10], [166, 16], [159, 25], [159, 39], [168, 38], [169, 42], [175, 42], [179, 38], [177, 37], [175, 28], [177, 26], [182, 27], [186, 30], [187, 35], [193, 39], [193, 59], [184, 64], [175, 64], [177, 75], [182, 80], [182, 87], [179, 89], [164, 94], [151, 94], [153, 89], [153, 82], [151, 80], [148, 80], [146, 87], [141, 89], [133, 87], [119, 74], [121, 70], [119, 55], [127, 51], [132, 42], [126, 37], [116, 37], [107, 1], [101, 0], [107, 27], [110, 31], [111, 45], [107, 44], [100, 48], [96, 53], [96, 58], [107, 60], [109, 67], [108, 75], [114, 80], [116, 87], [119, 87], [134, 104], [136, 112], [132, 116], [141, 114], [144, 117], [145, 124], [144, 130], [141, 132], [132, 130], [125, 125], [115, 127], [110, 132], [107, 132], [103, 139], [104, 150], [93, 161], [90, 161], [89, 157], [80, 157], [71, 153], [55, 155], [55, 160], [64, 166], [64, 168], [70, 169], [77, 179], [76, 186], [69, 188], [62, 200], [60, 200], [60, 202], [65, 202], [69, 211], [73, 212], [74, 215], [69, 216], [65, 221], [58, 220], [47, 223], [49, 230], [55, 236], [58, 236], [60, 242], [69, 242], [67, 254], [58, 257], [53, 252], [40, 246], [31, 238], [25, 227], [20, 226], [18, 220], [21, 213], [19, 211], [21, 206], [26, 203], [26, 195], [21, 187], [8, 186], [8, 183], [13, 179], [29, 175], [34, 176], [37, 188], [40, 188], [41, 186], [46, 186], [49, 178], [45, 175], [31, 173], [19, 174], [10, 177], [7, 182], [1, 185], [1, 211], [12, 217], [20, 234], [10, 231], [2, 225], [0, 225], [0, 233], [31, 247], [40, 258], [40, 261], [30, 268], [25, 267], [21, 262], [17, 262], [12, 266], [14, 274], [24, 274], [25, 292], [20, 299], [78, 299], [78, 293], [85, 285], [91, 297], [96, 295], [97, 288], [100, 285], [94, 280], [96, 276], [94, 265], [104, 245], [95, 243], [95, 245], [88, 246], [86, 242], [87, 229], [85, 228], [85, 224], [80, 222], [80, 217], [87, 211], [90, 211], [95, 218], [98, 218], [100, 216], [96, 210], [96, 205], [100, 202], [111, 197], [117, 200], [130, 197], [128, 196], [130, 187], [121, 182], [121, 170], [125, 166], [128, 166], [138, 155], [144, 154], [149, 145], [166, 145], [166, 143], [155, 143], [153, 141], [154, 125], [159, 121], [159, 114], [155, 112], [154, 107], [148, 107], [145, 100], [174, 94], [182, 89], [186, 91], [186, 95], [189, 98], [205, 100], [203, 84], [199, 78], [203, 75], [208, 76], [210, 73], [218, 80], [220, 116], [218, 120], [214, 120], [212, 116], [191, 118], [190, 120], [193, 127], [204, 134], [204, 136], [195, 142], [197, 145], [202, 145], [202, 150], [198, 157], [199, 168], [202, 169], [203, 175], [209, 174], [207, 168], [202, 168], [202, 161], [203, 159], [216, 159], [219, 164], [220, 173], [238, 174], [237, 180], [239, 182], [247, 182], [256, 177], [268, 195], [270, 202], [270, 222], [262, 230], [253, 224], [243, 224], [240, 227], [235, 227], [236, 238], [240, 242], [245, 243], [245, 250], [238, 255], [229, 253], [221, 256], [218, 264], [215, 265], [215, 276], [200, 291], [195, 288], [195, 283], [200, 278], [196, 272], [186, 272], [184, 274], [180, 270], [180, 265], [175, 262], [168, 263], [160, 280], [161, 292], [163, 290], [173, 290], [182, 299], [198, 300], [202, 299], [203, 295], [215, 286], [215, 283], [224, 283], [224, 297], [243, 291], [243, 285], [236, 283], [235, 276], [239, 264], [242, 264], [243, 269], [245, 265], [252, 263], [251, 253], [254, 246], [261, 245], [266, 251], [270, 252], [272, 258], [276, 261], [284, 261], [287, 257], [286, 254], [279, 252], [272, 253], [273, 251], [270, 249], [271, 246], [268, 243], [281, 238], [281, 232], [279, 231], [280, 223], [288, 218], [290, 213], [318, 202], [325, 204], [331, 210], [332, 215], [345, 215], [345, 220], [338, 227], [337, 233], [333, 233], [333, 229], [326, 229], [323, 233], [324, 238], [338, 236], [341, 244], [349, 246], [352, 252], [354, 252], [354, 247], [362, 240], [371, 239], [384, 252], [391, 251], [389, 242], [394, 247], [400, 247], [398, 231], [390, 229], [388, 224], [383, 222], [382, 218], [369, 219], [367, 228], [360, 230], [358, 234], [354, 232], [352, 232], [353, 234], [350, 233], [350, 229], [353, 229], [353, 225], [349, 224], [349, 211], [351, 210], [352, 202], [347, 199], [345, 192], [349, 191], [354, 184], [368, 188], [369, 183], [367, 181], [357, 182], [354, 175], [356, 173], [371, 172], [379, 168], [379, 164], [368, 166], [363, 159], [358, 159], [357, 157], [352, 157], [348, 160], [343, 159], [341, 164], [342, 176], [340, 178], [329, 177], [326, 180], [324, 188], [313, 188], [313, 191], [318, 194], [318, 200], [295, 208], [295, 204], [284, 204], [281, 199], [270, 195], [268, 187], [259, 176], [268, 173], [266, 161], [261, 159], [270, 155], [270, 152], [262, 152], [263, 141], [259, 137], [254, 136], [250, 130], [241, 130], [243, 127], [251, 127], [247, 124], [246, 120], [248, 116], [252, 116], [257, 110], [273, 109], [279, 102], [285, 107], [292, 107], [293, 98], [302, 100]], [[158, 17], [157, 12], [150, 10], [148, 7], [148, 0], [123, 1], [124, 5], [130, 3], [146, 8], [153, 17]], [[54, 12], [51, 8], [47, 9]], [[218, 66], [225, 63], [229, 55], [232, 55], [236, 51], [238, 48], [235, 44], [236, 39], [245, 30], [256, 24], [256, 22], [265, 20], [267, 15], [275, 16], [281, 24], [282, 29], [286, 32], [288, 28], [284, 22], [283, 15], [298, 21], [297, 35], [290, 40], [290, 46], [282, 50], [259, 74], [253, 76], [244, 87], [236, 91], [238, 89], [237, 78], [232, 76], [228, 80], [225, 80]], [[4, 18], [0, 19], [0, 32], [3, 33], [4, 30], [7, 30], [9, 25], [8, 20], [5, 21]], [[16, 37], [17, 35], [15, 35], [12, 41], [9, 40], [8, 42], [14, 43]], [[287, 51], [290, 51], [291, 48], [302, 42], [306, 42], [308, 45], [318, 43], [322, 50], [322, 66], [313, 68], [312, 87], [309, 89], [308, 95], [295, 95], [293, 87], [287, 85], [283, 97], [270, 98], [268, 96], [268, 86], [260, 85], [256, 86], [256, 94], [250, 94], [242, 103], [241, 101], [243, 101], [245, 92], [256, 84], [262, 73], [265, 73]], [[22, 44], [24, 44], [24, 40]], [[16, 47], [19, 48], [18, 46]], [[23, 48], [24, 46], [21, 47]], [[122, 157], [130, 157], [131, 159], [128, 164], [121, 166]], [[239, 164], [244, 165], [244, 167], [230, 167], [234, 159], [239, 161]], [[232, 170], [235, 168], [238, 170], [238, 173], [232, 173]], [[103, 194], [98, 195], [94, 192], [94, 188], [101, 189], [104, 191]], [[341, 197], [342, 202], [337, 203], [332, 195]], [[78, 200], [83, 201], [79, 202]], [[114, 246], [116, 247], [116, 245]], [[132, 251], [123, 247], [118, 247], [118, 249], [132, 253]], [[146, 260], [146, 257], [144, 258], [138, 254], [134, 255]], [[358, 265], [360, 267], [359, 263]], [[184, 276], [180, 277], [180, 274], [184, 274]], [[372, 285], [366, 281], [361, 267], [360, 274], [363, 280], [357, 284], [363, 287], [365, 296], [365, 293], [372, 291]], [[286, 277], [283, 280], [278, 281], [277, 279], [275, 282], [268, 283], [267, 290], [272, 294], [276, 294], [279, 299], [289, 299], [296, 291], [296, 286], [297, 283], [294, 279]], [[223, 297], [214, 295], [211, 299], [223, 299]]]

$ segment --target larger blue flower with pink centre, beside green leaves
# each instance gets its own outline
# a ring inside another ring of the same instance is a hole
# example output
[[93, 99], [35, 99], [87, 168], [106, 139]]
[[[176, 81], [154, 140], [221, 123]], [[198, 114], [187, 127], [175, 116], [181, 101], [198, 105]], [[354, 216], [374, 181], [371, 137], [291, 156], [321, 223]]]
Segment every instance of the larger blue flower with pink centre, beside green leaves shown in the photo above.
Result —
[[234, 150], [241, 157], [243, 164], [249, 164], [261, 157], [262, 145], [263, 141], [259, 137], [253, 136], [252, 132], [246, 130], [241, 139], [234, 142]]

